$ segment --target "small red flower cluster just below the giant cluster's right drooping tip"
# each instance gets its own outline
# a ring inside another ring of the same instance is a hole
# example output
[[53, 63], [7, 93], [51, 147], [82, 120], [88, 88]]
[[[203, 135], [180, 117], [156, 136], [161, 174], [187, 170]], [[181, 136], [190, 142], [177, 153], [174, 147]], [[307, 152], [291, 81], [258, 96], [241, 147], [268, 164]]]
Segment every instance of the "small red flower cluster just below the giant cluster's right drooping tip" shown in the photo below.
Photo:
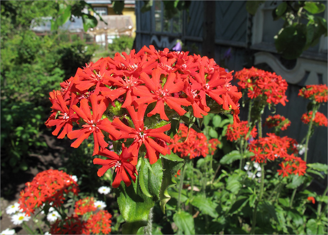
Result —
[[256, 135], [256, 127], [253, 127], [253, 129], [250, 131], [247, 121], [229, 124], [226, 132], [226, 137], [229, 141], [235, 141], [240, 139], [249, 140], [250, 137], [255, 138]]

